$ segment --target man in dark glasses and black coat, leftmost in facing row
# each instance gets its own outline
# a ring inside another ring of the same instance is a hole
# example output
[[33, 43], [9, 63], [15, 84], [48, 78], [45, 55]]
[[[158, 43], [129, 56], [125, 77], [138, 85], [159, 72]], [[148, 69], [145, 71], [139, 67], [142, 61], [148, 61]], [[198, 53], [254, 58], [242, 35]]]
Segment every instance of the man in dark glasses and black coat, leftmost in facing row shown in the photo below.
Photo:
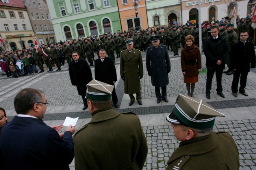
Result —
[[85, 110], [88, 107], [85, 99], [86, 84], [93, 79], [93, 76], [87, 61], [80, 59], [77, 51], [73, 51], [71, 56], [73, 61], [69, 63], [69, 77], [72, 85], [77, 88], [78, 95], [82, 96], [83, 110]]

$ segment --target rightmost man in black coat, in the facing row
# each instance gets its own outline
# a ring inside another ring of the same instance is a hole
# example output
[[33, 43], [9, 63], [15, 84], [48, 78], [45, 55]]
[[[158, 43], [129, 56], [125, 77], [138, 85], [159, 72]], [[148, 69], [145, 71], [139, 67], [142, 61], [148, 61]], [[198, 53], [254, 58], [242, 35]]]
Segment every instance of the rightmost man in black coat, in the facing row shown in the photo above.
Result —
[[249, 33], [247, 31], [242, 31], [240, 33], [240, 41], [234, 44], [231, 48], [230, 68], [234, 71], [231, 89], [235, 97], [237, 97], [237, 87], [240, 75], [239, 93], [248, 96], [248, 94], [245, 93], [247, 75], [250, 68], [255, 68], [256, 57], [254, 45], [251, 42], [248, 42], [247, 38], [249, 38]]

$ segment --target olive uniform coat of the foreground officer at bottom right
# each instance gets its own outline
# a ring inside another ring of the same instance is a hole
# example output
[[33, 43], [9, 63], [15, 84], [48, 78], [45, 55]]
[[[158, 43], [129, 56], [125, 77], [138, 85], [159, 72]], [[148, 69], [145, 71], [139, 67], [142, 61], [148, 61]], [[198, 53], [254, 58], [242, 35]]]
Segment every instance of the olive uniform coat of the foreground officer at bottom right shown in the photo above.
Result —
[[183, 141], [173, 152], [166, 170], [238, 170], [239, 153], [226, 132]]

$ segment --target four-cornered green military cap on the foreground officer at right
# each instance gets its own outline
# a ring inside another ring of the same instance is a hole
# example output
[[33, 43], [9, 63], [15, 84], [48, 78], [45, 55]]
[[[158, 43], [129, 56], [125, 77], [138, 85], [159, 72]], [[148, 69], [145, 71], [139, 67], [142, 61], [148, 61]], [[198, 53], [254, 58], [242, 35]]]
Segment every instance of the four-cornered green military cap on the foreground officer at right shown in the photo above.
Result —
[[166, 120], [191, 128], [208, 129], [213, 127], [216, 116], [225, 115], [201, 99], [178, 94], [173, 112], [166, 117]]

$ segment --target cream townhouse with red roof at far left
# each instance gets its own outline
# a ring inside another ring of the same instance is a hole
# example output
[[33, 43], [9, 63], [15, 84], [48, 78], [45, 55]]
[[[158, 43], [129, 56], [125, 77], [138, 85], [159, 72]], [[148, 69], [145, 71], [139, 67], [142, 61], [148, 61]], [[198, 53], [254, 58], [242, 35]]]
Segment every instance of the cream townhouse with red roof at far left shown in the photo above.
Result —
[[1, 51], [27, 48], [34, 33], [23, 0], [0, 1]]

